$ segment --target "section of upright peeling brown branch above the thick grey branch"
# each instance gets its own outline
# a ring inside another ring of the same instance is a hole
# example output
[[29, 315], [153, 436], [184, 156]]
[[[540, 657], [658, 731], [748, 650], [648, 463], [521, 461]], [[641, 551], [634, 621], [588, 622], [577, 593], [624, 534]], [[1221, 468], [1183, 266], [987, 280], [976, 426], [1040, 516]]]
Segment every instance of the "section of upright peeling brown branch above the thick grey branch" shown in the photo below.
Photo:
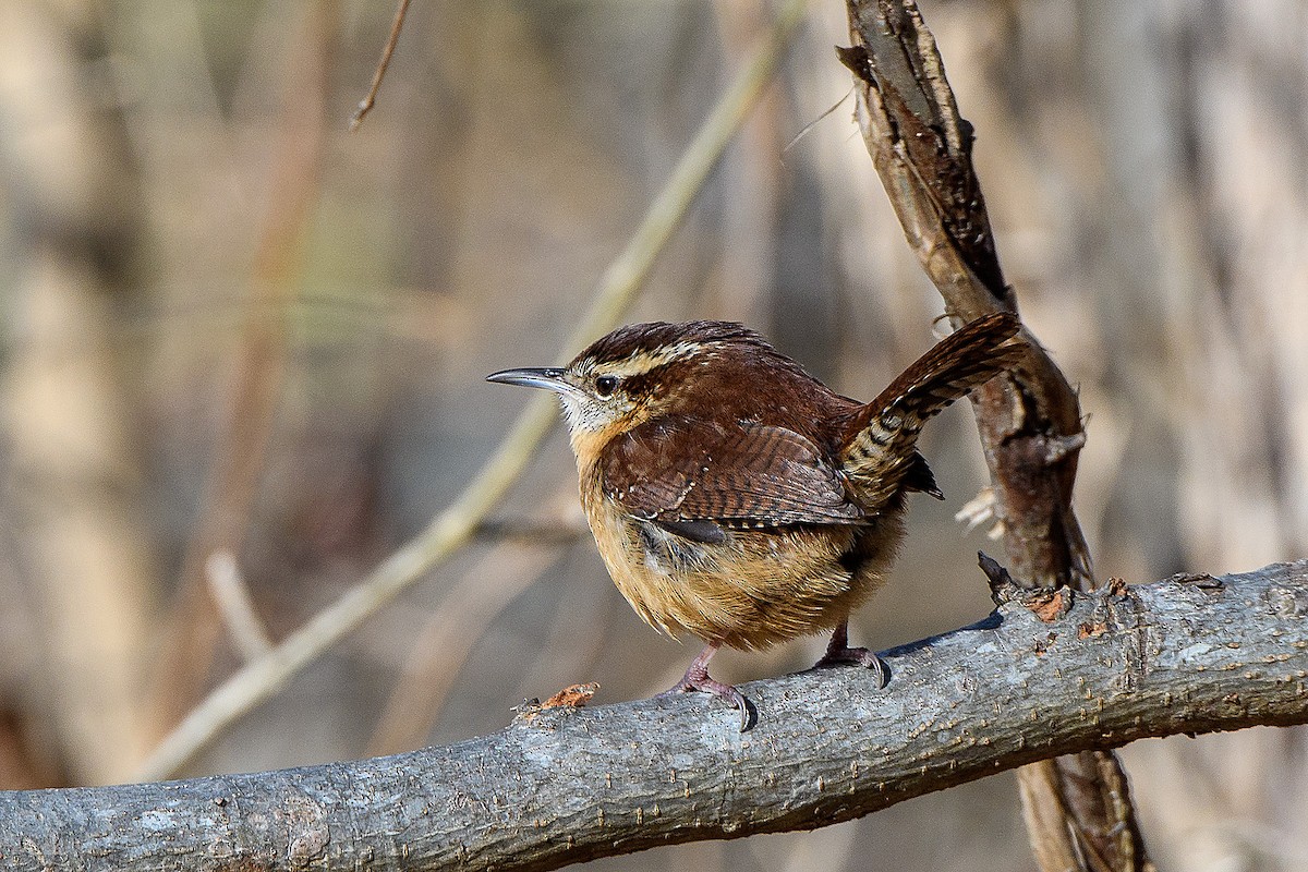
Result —
[[[909, 247], [960, 322], [1016, 311], [972, 165], [972, 126], [917, 5], [848, 5], [854, 46], [840, 59], [854, 75], [863, 140]], [[1005, 550], [1023, 583], [1088, 587], [1090, 556], [1071, 511], [1080, 407], [1058, 366], [1023, 332], [1029, 350], [1022, 366], [973, 392]]]

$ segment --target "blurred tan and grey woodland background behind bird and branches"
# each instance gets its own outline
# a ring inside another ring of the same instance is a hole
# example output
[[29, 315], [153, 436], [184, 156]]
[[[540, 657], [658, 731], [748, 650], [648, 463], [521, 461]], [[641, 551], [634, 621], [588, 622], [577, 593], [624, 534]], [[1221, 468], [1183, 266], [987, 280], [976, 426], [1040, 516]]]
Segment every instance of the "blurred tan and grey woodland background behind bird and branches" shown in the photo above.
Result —
[[[1023, 314], [1079, 386], [1101, 579], [1303, 557], [1308, 7], [922, 0]], [[747, 47], [764, 0], [0, 1], [0, 787], [127, 780], [267, 638], [420, 532], [528, 399]], [[727, 318], [869, 399], [934, 289], [850, 119], [842, 4], [783, 73], [629, 320]], [[841, 102], [844, 101], [844, 102]], [[836, 110], [824, 112], [837, 105]], [[812, 123], [811, 129], [790, 143]], [[923, 437], [876, 647], [990, 609], [967, 404]], [[216, 605], [246, 595], [250, 626]], [[731, 681], [821, 641], [725, 654]], [[450, 743], [525, 697], [670, 686], [594, 552], [556, 433], [473, 546], [190, 774]], [[1167, 869], [1308, 867], [1308, 743], [1124, 752]], [[812, 834], [593, 868], [1033, 869], [1011, 775]]]

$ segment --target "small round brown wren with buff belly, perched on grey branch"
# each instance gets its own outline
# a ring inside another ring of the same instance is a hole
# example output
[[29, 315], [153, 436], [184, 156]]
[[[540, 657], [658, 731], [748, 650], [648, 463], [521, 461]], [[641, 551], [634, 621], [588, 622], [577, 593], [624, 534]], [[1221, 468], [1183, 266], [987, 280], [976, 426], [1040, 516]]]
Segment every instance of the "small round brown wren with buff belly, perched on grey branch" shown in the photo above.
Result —
[[560, 369], [492, 382], [559, 395], [581, 501], [617, 590], [650, 626], [705, 648], [667, 693], [749, 706], [709, 676], [723, 645], [765, 648], [828, 630], [819, 665], [858, 663], [850, 612], [883, 583], [905, 494], [943, 498], [917, 435], [927, 418], [1014, 365], [1018, 319], [988, 315], [909, 366], [871, 403], [831, 391], [735, 323], [632, 324]]

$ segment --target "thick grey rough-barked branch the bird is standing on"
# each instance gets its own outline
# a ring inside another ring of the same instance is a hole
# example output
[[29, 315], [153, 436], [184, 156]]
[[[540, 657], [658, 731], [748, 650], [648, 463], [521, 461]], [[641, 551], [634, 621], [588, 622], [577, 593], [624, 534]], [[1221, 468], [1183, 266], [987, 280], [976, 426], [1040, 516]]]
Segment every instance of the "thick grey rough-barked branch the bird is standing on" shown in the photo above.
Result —
[[449, 748], [250, 775], [0, 794], [8, 869], [551, 869], [859, 817], [1054, 754], [1308, 722], [1308, 561], [1018, 592], [886, 652], [702, 694], [530, 710]]

